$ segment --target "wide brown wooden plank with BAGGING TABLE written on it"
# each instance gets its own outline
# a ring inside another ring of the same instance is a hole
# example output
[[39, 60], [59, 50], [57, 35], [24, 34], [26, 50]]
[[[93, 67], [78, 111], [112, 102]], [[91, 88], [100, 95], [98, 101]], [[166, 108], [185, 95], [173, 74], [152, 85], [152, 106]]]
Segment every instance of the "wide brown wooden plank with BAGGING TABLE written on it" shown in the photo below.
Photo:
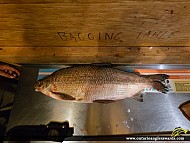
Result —
[[1, 47], [190, 46], [190, 1], [2, 1]]

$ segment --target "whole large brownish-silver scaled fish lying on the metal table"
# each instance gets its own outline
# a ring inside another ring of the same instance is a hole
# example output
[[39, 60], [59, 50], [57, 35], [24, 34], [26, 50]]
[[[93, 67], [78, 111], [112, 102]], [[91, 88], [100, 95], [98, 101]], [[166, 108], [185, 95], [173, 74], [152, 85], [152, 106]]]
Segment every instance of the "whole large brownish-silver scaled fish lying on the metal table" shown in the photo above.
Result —
[[144, 88], [167, 93], [166, 74], [140, 75], [110, 66], [75, 65], [37, 80], [34, 88], [51, 98], [79, 103], [112, 103], [125, 98], [143, 100]]

